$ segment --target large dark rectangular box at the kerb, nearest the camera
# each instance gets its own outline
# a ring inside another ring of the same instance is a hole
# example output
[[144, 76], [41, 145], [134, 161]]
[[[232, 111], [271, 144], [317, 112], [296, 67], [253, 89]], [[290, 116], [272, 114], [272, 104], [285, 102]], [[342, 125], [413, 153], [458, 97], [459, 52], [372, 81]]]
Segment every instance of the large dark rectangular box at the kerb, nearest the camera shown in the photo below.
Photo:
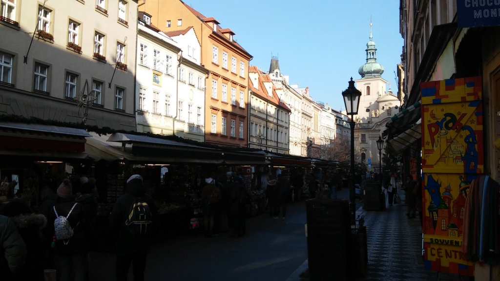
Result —
[[305, 202], [309, 280], [348, 280], [349, 201], [309, 199]]

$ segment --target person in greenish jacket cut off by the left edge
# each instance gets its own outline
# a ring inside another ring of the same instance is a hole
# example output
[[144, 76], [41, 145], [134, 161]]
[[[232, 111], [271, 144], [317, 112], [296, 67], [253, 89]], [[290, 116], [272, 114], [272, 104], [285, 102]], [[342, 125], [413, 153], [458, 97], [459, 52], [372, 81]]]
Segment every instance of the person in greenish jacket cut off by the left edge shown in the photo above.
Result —
[[8, 216], [0, 215], [0, 272], [2, 280], [14, 280], [22, 270], [26, 244]]

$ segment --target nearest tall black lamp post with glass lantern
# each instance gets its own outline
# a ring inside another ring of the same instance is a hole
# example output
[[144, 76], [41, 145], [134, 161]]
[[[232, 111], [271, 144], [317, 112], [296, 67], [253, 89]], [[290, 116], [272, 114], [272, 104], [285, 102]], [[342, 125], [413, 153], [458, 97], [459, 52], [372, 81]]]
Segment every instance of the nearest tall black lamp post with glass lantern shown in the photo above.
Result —
[[345, 111], [350, 115], [350, 176], [349, 176], [349, 198], [350, 198], [350, 222], [356, 224], [356, 193], [354, 190], [354, 122], [353, 115], [357, 114], [359, 107], [359, 97], [361, 91], [354, 87], [354, 81], [350, 77], [349, 86], [342, 91], [345, 103]]

